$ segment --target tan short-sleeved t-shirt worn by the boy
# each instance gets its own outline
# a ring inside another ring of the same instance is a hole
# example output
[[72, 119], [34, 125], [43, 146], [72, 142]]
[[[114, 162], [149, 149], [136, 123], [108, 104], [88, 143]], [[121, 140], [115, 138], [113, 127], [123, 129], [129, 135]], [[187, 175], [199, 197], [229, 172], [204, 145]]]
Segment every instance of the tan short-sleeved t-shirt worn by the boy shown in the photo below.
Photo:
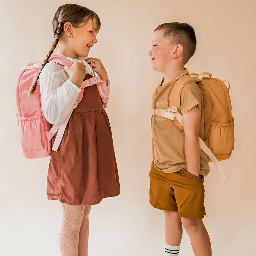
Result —
[[[181, 76], [189, 74], [187, 68], [181, 71], [171, 81], [159, 84], [152, 95], [153, 108], [168, 108], [168, 101], [173, 84]], [[181, 115], [198, 105], [201, 109], [199, 137], [204, 140], [204, 109], [203, 95], [196, 83], [184, 86], [180, 97]], [[181, 132], [172, 120], [162, 116], [152, 116], [151, 129], [155, 148], [154, 164], [162, 172], [177, 172], [186, 170], [185, 133]], [[206, 176], [210, 171], [207, 156], [201, 149], [200, 175]]]

